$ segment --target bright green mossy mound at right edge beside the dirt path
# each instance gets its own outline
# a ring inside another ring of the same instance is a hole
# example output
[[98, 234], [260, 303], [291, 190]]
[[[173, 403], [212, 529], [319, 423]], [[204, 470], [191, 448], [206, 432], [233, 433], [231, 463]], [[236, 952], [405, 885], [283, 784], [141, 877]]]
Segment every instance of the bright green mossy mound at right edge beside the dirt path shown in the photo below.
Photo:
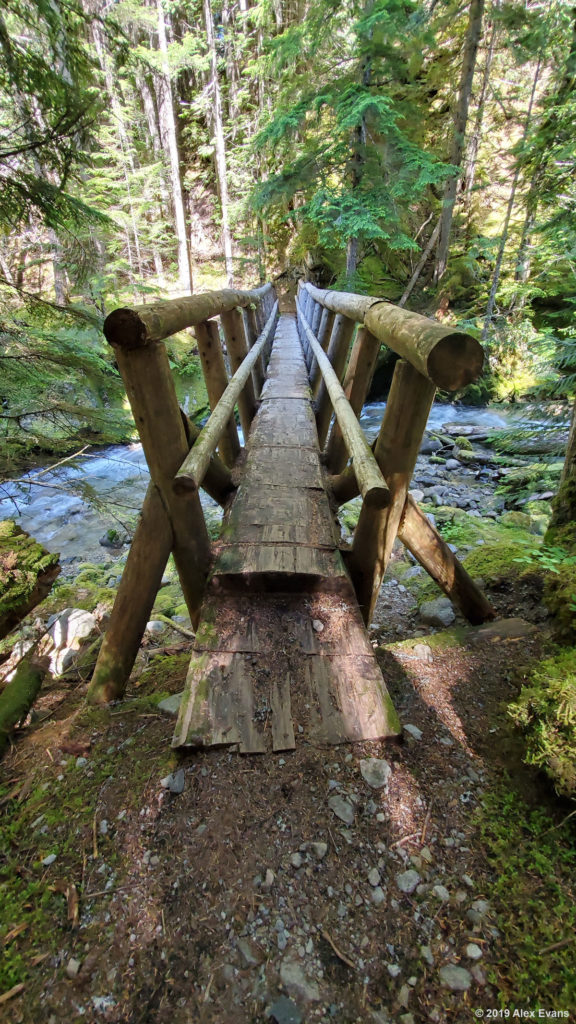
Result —
[[532, 669], [508, 713], [524, 730], [527, 764], [542, 768], [561, 796], [576, 798], [576, 650]]

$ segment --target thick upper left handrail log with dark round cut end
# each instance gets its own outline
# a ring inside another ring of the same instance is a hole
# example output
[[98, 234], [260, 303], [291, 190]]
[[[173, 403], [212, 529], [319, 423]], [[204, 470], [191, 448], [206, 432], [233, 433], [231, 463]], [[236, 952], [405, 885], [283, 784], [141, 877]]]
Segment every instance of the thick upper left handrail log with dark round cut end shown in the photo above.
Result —
[[204, 292], [203, 295], [166, 299], [147, 306], [115, 309], [105, 321], [104, 333], [111, 345], [140, 348], [230, 312], [237, 306], [257, 306], [272, 292], [272, 285], [262, 285], [250, 291], [223, 288], [219, 292]]

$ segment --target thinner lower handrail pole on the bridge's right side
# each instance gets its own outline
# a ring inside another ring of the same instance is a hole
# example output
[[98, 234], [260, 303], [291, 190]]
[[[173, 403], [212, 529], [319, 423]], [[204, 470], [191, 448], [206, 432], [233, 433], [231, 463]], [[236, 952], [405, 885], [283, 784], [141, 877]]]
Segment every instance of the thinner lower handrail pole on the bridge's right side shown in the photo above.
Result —
[[334, 414], [340, 425], [346, 450], [355, 468], [360, 493], [366, 504], [370, 507], [384, 508], [388, 501], [388, 488], [374, 459], [372, 449], [366, 440], [356, 414], [351, 408], [342, 386], [332, 369], [330, 359], [314, 336], [298, 302], [296, 302], [296, 309], [307, 343], [318, 360], [324, 383], [330, 395]]

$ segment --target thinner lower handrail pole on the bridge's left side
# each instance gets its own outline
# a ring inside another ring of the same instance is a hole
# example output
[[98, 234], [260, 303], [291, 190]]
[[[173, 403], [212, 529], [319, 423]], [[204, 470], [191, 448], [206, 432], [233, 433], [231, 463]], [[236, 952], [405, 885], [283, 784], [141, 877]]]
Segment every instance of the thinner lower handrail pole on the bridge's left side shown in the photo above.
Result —
[[225, 430], [227, 423], [234, 412], [234, 407], [238, 401], [239, 395], [252, 372], [252, 367], [260, 357], [276, 327], [277, 314], [278, 302], [275, 302], [262, 333], [252, 345], [240, 369], [236, 371], [234, 377], [231, 377], [230, 383], [213, 410], [212, 415], [200, 431], [198, 439], [178, 469], [172, 484], [175, 494], [179, 495], [187, 490], [197, 490], [201, 486], [210, 464], [210, 459]]

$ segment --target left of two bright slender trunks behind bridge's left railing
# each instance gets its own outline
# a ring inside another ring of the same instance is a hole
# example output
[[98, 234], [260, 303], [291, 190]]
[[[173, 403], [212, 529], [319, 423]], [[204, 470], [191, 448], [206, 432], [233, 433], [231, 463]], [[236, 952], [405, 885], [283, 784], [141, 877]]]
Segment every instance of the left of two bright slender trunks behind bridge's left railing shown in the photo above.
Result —
[[164, 7], [162, 5], [162, 0], [157, 0], [157, 4], [158, 46], [162, 59], [162, 74], [157, 77], [158, 117], [160, 121], [162, 143], [165, 151], [168, 153], [170, 161], [172, 207], [174, 211], [174, 224], [178, 243], [178, 281], [182, 291], [192, 292], [194, 291], [194, 283], [192, 279], [192, 265], [188, 247], [187, 218], [182, 199], [180, 156], [178, 152], [176, 118], [174, 114], [174, 97], [172, 93], [172, 83], [170, 81], [170, 66], [168, 62], [166, 23], [164, 19]]

